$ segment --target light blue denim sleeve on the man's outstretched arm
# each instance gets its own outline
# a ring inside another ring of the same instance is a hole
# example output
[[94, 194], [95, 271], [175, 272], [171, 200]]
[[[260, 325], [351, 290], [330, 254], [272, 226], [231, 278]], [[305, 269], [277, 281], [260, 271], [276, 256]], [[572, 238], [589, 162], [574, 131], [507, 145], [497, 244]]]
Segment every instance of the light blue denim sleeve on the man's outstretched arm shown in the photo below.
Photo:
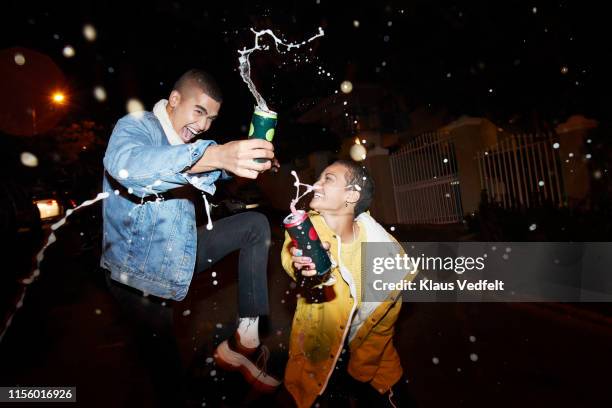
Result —
[[214, 182], [221, 175], [220, 170], [199, 174], [187, 174], [186, 170], [215, 142], [197, 140], [183, 145], [156, 146], [151, 142], [150, 130], [142, 122], [130, 116], [119, 120], [104, 156], [106, 171], [141, 197], [188, 183], [214, 194]]

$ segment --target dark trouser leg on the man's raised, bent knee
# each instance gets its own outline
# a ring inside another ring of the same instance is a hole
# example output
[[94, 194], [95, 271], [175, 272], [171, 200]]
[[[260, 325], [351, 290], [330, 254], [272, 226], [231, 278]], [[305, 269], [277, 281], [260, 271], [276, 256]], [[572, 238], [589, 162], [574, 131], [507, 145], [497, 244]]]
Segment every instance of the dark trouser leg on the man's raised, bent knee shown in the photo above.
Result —
[[212, 230], [198, 228], [195, 272], [200, 273], [227, 254], [240, 250], [238, 259], [238, 315], [267, 315], [268, 249], [270, 224], [260, 213], [244, 212], [215, 221]]

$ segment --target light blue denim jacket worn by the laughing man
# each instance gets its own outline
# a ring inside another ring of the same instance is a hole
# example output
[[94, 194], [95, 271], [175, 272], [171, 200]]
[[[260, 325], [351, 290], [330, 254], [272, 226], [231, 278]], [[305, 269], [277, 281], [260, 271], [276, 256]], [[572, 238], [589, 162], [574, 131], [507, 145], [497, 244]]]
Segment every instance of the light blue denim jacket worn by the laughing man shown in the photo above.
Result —
[[[187, 174], [210, 140], [170, 145], [151, 112], [117, 122], [104, 156], [104, 236], [100, 265], [143, 292], [182, 300], [193, 276], [197, 231], [193, 202], [177, 192], [214, 194], [220, 170]], [[187, 186], [187, 187], [185, 187]]]

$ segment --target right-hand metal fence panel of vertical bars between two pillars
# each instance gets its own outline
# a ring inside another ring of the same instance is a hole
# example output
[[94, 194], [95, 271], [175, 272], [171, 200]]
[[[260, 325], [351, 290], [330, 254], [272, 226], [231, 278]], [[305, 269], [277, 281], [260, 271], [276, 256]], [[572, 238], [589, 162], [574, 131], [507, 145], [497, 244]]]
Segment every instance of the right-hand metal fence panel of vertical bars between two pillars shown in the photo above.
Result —
[[561, 159], [556, 136], [509, 135], [478, 152], [481, 189], [504, 208], [564, 203]]

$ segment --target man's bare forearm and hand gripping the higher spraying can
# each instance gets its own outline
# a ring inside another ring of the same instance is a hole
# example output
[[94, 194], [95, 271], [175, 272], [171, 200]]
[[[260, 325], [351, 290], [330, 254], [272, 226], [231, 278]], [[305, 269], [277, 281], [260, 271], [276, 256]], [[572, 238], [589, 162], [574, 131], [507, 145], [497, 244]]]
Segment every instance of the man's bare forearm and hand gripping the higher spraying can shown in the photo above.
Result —
[[[257, 163], [254, 159], [270, 159]], [[202, 173], [222, 169], [239, 177], [255, 179], [272, 167], [274, 145], [267, 140], [235, 140], [223, 145], [209, 146], [204, 155], [187, 172]]]

